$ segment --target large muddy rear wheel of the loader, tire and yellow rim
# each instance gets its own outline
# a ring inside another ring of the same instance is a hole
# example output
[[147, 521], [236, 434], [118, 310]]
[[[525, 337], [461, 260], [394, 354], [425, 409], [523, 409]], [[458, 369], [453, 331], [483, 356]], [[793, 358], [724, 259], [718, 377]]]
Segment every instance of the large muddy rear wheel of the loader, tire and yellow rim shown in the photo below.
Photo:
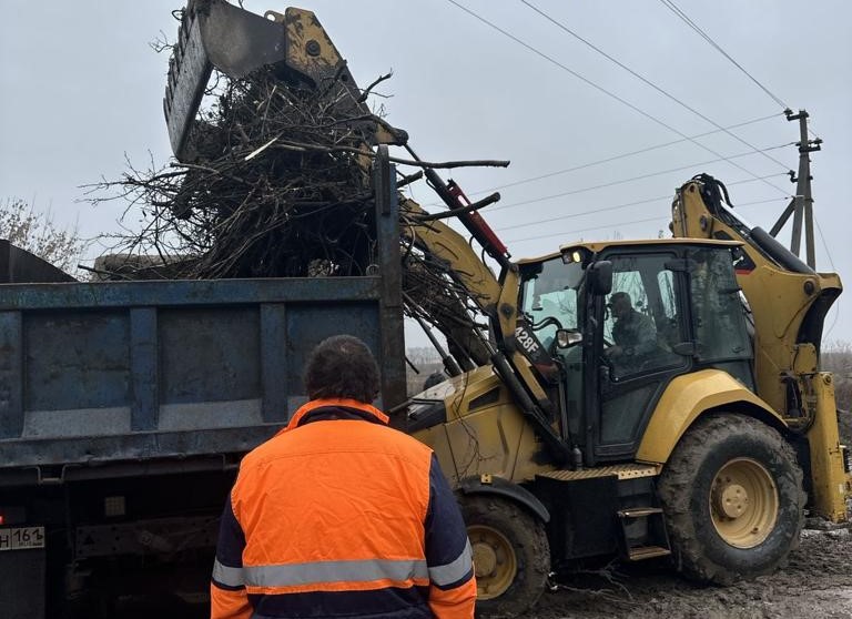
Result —
[[771, 574], [799, 545], [802, 470], [781, 435], [736, 414], [700, 419], [658, 487], [676, 567], [699, 582]]

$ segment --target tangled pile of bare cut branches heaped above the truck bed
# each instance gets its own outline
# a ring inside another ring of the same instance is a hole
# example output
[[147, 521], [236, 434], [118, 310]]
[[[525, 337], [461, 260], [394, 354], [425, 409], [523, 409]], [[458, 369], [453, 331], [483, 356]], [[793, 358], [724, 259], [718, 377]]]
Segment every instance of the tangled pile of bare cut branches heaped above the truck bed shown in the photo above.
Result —
[[[141, 206], [144, 223], [141, 231], [120, 236], [113, 255], [95, 264], [99, 275], [372, 273], [377, 247], [371, 144], [379, 125], [392, 128], [366, 113], [363, 102], [386, 78], [353, 94], [339, 83], [325, 90], [285, 88], [267, 70], [244, 79], [220, 75], [215, 94], [207, 94], [212, 104], [200, 112], [190, 136], [190, 161], [156, 172], [131, 169], [121, 181], [106, 183]], [[480, 163], [493, 164], [418, 164]], [[405, 210], [400, 217], [402, 226], [416, 223]], [[405, 236], [406, 314], [438, 326], [452, 338], [452, 348], [466, 351], [470, 344], [460, 341], [478, 337], [471, 319], [475, 300], [454, 282], [446, 263], [412, 247]]]

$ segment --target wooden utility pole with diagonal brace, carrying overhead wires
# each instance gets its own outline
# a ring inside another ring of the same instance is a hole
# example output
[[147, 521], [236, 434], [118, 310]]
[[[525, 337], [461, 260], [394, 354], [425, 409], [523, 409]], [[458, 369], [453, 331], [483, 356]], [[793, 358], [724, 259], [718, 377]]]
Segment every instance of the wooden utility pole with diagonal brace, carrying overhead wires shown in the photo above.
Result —
[[795, 183], [795, 195], [787, 205], [784, 212], [772, 226], [769, 233], [778, 236], [778, 233], [784, 227], [784, 224], [793, 215], [793, 233], [790, 239], [790, 251], [797, 256], [801, 251], [802, 244], [802, 223], [804, 222], [804, 246], [808, 254], [808, 266], [816, 268], [815, 245], [813, 241], [813, 195], [811, 193], [811, 158], [810, 153], [822, 150], [822, 140], [808, 140], [808, 112], [799, 110], [798, 114], [793, 111], [784, 110], [787, 120], [799, 121], [799, 174], [792, 170], [789, 172], [790, 181]]

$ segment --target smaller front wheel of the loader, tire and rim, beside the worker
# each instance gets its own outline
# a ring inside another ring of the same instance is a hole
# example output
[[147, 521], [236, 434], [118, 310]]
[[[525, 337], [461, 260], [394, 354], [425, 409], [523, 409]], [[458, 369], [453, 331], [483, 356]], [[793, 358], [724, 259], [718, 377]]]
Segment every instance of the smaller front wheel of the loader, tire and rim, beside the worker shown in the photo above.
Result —
[[459, 501], [474, 550], [476, 617], [526, 616], [541, 597], [550, 571], [544, 522], [500, 497], [463, 495]]

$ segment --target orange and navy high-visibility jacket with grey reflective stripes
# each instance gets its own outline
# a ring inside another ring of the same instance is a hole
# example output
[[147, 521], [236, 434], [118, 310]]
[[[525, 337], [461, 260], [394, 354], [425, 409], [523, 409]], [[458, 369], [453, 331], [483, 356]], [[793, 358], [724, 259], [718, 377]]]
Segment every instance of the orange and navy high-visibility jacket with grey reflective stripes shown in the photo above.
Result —
[[473, 619], [470, 544], [432, 450], [353, 399], [313, 400], [244, 459], [212, 619]]

